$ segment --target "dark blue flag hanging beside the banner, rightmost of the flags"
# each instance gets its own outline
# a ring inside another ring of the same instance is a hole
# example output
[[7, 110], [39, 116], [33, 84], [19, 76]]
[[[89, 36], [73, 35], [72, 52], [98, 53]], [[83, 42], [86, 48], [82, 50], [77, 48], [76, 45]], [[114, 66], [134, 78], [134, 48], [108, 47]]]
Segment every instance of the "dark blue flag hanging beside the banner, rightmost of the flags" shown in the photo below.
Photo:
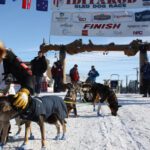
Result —
[[47, 11], [48, 10], [48, 0], [37, 0], [36, 10]]

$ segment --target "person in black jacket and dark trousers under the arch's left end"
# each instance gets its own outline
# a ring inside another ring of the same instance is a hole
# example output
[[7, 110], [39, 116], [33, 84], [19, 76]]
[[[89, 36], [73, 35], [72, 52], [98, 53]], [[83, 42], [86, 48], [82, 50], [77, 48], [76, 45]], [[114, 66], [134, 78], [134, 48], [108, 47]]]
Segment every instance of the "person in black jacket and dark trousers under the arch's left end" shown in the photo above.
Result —
[[44, 54], [39, 51], [38, 56], [31, 60], [31, 70], [35, 79], [35, 94], [39, 96], [41, 92], [41, 82], [44, 72], [47, 70], [47, 62]]

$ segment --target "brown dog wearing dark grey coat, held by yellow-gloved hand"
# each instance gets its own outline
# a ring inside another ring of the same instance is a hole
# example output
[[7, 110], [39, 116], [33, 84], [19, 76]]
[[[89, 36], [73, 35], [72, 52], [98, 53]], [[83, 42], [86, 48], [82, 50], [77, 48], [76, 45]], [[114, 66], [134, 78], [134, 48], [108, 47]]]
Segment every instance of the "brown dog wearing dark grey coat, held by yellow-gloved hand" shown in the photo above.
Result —
[[[9, 120], [16, 115], [19, 115], [22, 119], [28, 120], [25, 123], [25, 139], [24, 146], [28, 143], [28, 134], [30, 130], [31, 121], [39, 124], [42, 137], [42, 148], [45, 145], [45, 128], [44, 122], [49, 124], [55, 124], [57, 128], [57, 135], [55, 139], [60, 138], [60, 125], [63, 129], [63, 135], [61, 139], [65, 139], [66, 133], [66, 121], [67, 108], [63, 102], [63, 99], [58, 96], [43, 96], [41, 98], [31, 98], [28, 107], [25, 111], [18, 111], [12, 107], [14, 96], [0, 97], [0, 119], [3, 125], [9, 123]], [[6, 134], [2, 135], [2, 143], [6, 143]]]

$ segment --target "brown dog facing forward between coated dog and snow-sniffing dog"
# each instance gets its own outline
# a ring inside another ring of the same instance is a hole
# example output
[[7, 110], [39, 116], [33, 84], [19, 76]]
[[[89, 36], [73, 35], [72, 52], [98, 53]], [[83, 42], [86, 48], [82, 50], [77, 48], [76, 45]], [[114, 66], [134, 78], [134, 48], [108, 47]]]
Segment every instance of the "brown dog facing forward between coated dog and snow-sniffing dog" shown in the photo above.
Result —
[[67, 110], [68, 110], [67, 117], [69, 117], [69, 114], [72, 111], [72, 109], [74, 111], [75, 117], [77, 117], [77, 108], [76, 108], [77, 93], [76, 93], [76, 89], [72, 83], [67, 83], [65, 86], [68, 90], [67, 94], [64, 98], [64, 102], [66, 103]]

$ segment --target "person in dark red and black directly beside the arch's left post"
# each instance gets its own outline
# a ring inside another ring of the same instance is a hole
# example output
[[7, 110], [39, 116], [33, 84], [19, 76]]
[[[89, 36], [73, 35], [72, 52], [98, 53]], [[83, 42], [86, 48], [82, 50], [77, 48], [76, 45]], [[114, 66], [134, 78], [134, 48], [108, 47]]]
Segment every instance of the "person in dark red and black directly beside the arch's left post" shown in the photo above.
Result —
[[54, 92], [62, 91], [63, 83], [63, 68], [60, 61], [54, 62], [54, 65], [51, 69], [52, 78], [54, 80]]

